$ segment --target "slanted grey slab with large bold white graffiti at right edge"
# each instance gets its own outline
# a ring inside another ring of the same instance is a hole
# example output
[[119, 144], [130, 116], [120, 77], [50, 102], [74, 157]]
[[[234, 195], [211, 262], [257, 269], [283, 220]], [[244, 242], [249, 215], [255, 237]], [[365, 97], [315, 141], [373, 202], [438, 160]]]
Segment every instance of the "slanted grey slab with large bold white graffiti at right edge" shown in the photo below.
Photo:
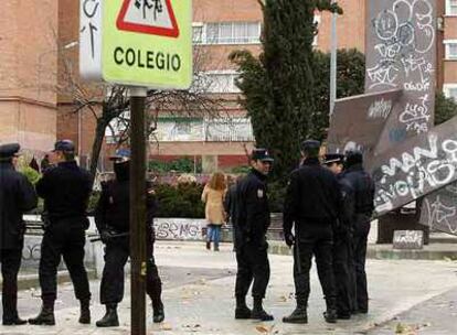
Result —
[[403, 206], [457, 179], [457, 120], [411, 138], [373, 162], [378, 214]]

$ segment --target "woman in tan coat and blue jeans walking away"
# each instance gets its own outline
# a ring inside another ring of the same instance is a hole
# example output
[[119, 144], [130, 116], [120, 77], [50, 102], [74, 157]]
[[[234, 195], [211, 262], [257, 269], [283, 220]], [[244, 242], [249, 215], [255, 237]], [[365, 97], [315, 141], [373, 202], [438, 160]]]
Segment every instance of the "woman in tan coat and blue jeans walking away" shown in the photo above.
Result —
[[225, 224], [224, 196], [226, 192], [225, 175], [215, 172], [202, 192], [202, 202], [205, 203], [206, 218], [206, 249], [214, 244], [214, 251], [219, 251], [221, 240], [221, 228]]

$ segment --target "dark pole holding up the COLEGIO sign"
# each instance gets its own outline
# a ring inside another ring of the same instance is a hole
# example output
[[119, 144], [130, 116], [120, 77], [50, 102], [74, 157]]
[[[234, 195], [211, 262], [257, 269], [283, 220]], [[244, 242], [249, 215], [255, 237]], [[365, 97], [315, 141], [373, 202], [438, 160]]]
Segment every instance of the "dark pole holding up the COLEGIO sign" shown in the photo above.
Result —
[[131, 335], [146, 335], [146, 94], [144, 87], [130, 88]]

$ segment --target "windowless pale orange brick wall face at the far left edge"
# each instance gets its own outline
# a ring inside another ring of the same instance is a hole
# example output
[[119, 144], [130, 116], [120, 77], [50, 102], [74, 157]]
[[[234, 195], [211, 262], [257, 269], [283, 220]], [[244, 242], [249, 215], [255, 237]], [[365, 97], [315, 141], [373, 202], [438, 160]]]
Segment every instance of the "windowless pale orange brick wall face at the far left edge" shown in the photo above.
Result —
[[49, 150], [56, 134], [57, 1], [2, 1], [0, 143]]

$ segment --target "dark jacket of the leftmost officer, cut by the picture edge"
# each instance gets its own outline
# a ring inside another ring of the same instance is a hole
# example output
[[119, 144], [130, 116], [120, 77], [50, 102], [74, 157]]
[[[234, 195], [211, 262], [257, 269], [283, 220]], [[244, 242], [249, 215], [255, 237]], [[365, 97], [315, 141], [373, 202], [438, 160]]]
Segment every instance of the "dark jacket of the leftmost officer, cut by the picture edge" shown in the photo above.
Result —
[[22, 248], [22, 215], [36, 207], [36, 194], [11, 162], [0, 162], [0, 249]]

